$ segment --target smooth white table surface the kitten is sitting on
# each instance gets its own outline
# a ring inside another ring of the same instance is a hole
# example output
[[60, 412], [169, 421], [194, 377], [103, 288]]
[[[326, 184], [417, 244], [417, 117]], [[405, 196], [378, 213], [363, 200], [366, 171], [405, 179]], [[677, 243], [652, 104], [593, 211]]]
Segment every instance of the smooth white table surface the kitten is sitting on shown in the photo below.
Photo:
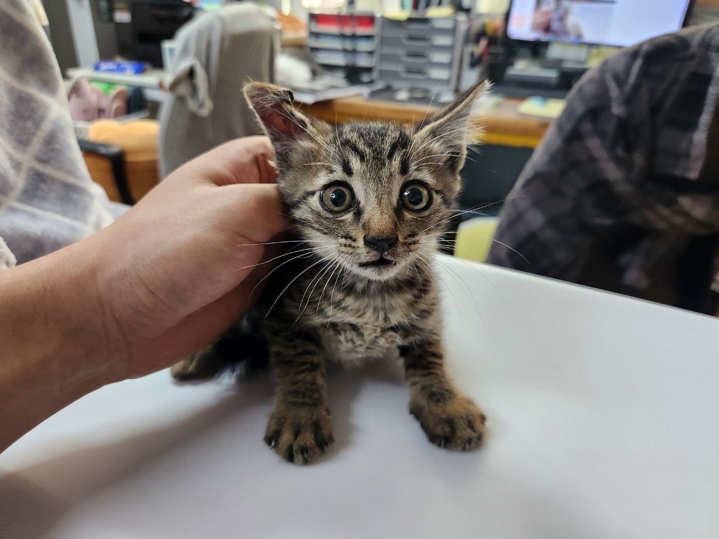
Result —
[[719, 320], [441, 260], [480, 451], [431, 446], [391, 366], [331, 375], [336, 443], [305, 467], [262, 443], [267, 379], [160, 372], [0, 455], [0, 537], [718, 538]]

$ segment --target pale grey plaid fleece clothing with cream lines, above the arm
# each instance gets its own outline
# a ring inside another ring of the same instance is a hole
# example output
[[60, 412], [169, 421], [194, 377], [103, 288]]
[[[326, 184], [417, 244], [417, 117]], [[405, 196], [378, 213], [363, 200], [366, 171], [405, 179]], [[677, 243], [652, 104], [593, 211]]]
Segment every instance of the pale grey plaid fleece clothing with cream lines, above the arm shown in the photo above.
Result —
[[88, 174], [34, 5], [0, 0], [0, 268], [89, 236], [127, 209]]

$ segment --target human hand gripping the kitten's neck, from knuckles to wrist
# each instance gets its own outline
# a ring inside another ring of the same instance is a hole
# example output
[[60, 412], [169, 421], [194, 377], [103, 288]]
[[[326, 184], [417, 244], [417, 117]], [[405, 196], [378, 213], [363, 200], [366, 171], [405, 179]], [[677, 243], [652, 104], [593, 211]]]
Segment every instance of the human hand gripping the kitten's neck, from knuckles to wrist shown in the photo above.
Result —
[[272, 155], [265, 137], [228, 142], [85, 240], [96, 246], [97, 294], [121, 377], [192, 354], [257, 299], [257, 283], [273, 267], [260, 262], [281, 247], [262, 244], [286, 226]]

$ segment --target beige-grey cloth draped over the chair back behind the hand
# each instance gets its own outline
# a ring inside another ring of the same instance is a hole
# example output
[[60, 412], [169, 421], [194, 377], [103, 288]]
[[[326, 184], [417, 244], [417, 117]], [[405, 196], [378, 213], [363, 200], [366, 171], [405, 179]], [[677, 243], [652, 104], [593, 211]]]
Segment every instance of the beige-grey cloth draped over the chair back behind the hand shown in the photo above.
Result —
[[160, 175], [237, 137], [262, 134], [242, 96], [247, 80], [274, 82], [279, 27], [256, 4], [201, 14], [180, 28], [160, 114]]

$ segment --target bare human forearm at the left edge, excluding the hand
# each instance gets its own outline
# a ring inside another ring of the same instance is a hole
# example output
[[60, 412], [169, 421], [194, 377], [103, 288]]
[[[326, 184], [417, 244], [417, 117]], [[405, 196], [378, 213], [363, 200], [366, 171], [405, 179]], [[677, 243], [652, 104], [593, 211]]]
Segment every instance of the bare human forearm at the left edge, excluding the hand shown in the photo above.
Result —
[[[86, 240], [88, 242], [89, 240]], [[122, 379], [92, 245], [0, 272], [0, 451], [73, 400]]]

